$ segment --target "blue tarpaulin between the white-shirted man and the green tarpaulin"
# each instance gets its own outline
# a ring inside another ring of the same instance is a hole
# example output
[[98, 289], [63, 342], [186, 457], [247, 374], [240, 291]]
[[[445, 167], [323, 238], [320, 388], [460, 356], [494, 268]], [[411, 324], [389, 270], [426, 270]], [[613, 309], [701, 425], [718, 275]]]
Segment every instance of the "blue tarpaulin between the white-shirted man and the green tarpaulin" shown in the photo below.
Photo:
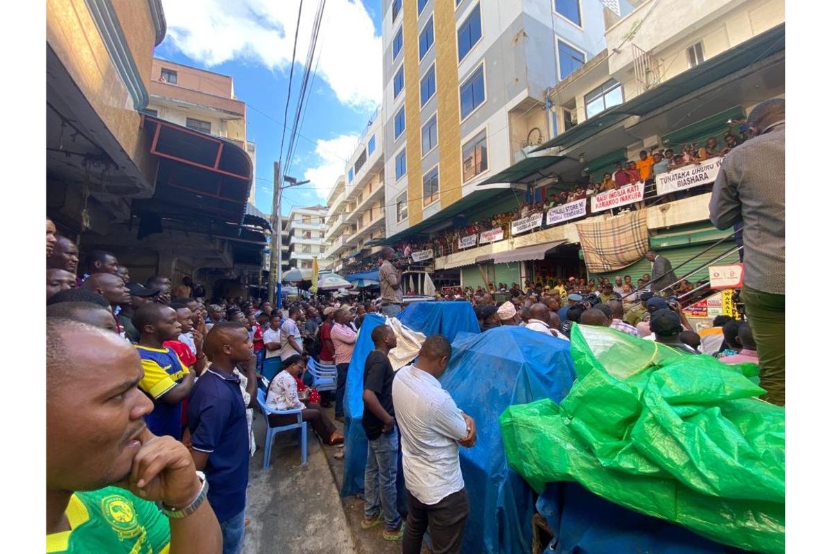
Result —
[[562, 339], [504, 326], [459, 335], [453, 342], [439, 382], [477, 424], [477, 444], [459, 449], [471, 507], [462, 552], [531, 551], [533, 492], [508, 467], [499, 417], [513, 404], [544, 398], [560, 402], [573, 380], [569, 343]]

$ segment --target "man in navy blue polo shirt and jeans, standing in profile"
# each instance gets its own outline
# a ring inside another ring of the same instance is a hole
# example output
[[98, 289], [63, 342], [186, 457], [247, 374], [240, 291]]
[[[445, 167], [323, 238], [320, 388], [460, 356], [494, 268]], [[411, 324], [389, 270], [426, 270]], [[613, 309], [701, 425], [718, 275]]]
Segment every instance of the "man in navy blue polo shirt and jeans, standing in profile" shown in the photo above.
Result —
[[191, 455], [210, 483], [208, 501], [222, 530], [223, 554], [237, 554], [245, 535], [245, 487], [249, 482], [249, 429], [237, 364], [254, 355], [249, 332], [236, 321], [213, 326], [206, 337], [212, 364], [188, 400]]

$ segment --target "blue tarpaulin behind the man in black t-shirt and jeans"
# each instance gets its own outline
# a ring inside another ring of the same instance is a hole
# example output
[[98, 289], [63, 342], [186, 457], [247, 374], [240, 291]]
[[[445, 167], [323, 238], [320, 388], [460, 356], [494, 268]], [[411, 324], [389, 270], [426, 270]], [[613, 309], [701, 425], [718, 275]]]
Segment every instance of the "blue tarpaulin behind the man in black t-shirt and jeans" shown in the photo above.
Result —
[[[477, 316], [468, 302], [414, 302], [399, 316], [404, 326], [425, 335], [442, 333], [453, 341], [459, 332], [479, 332]], [[364, 360], [374, 349], [370, 335], [376, 326], [384, 324], [384, 317], [367, 314], [355, 341], [353, 358], [347, 370], [344, 393], [344, 484], [341, 496], [358, 494], [364, 490], [364, 467], [367, 465], [367, 435], [361, 426], [364, 414]], [[501, 447], [502, 449], [502, 447]], [[399, 466], [399, 483], [402, 472]], [[399, 487], [399, 505], [404, 506], [404, 489]]]

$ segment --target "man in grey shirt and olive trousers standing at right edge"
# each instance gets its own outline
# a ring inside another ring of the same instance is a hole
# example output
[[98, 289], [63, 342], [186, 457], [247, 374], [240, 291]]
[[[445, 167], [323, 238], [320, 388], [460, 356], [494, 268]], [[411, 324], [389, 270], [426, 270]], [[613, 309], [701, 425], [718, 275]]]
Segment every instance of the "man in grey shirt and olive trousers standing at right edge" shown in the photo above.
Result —
[[743, 224], [742, 300], [760, 355], [762, 398], [785, 405], [785, 100], [748, 116], [755, 138], [726, 154], [711, 195], [711, 223]]

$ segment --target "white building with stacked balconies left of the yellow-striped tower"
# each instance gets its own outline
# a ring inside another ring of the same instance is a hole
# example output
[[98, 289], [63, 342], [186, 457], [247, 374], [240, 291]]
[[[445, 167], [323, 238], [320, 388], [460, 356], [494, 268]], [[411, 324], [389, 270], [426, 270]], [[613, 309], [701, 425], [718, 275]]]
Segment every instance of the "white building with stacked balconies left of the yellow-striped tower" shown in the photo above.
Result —
[[381, 110], [370, 120], [359, 145], [349, 158], [346, 173], [339, 176], [329, 193], [326, 257], [335, 272], [349, 274], [372, 263], [379, 247], [374, 241], [384, 238], [384, 149]]

